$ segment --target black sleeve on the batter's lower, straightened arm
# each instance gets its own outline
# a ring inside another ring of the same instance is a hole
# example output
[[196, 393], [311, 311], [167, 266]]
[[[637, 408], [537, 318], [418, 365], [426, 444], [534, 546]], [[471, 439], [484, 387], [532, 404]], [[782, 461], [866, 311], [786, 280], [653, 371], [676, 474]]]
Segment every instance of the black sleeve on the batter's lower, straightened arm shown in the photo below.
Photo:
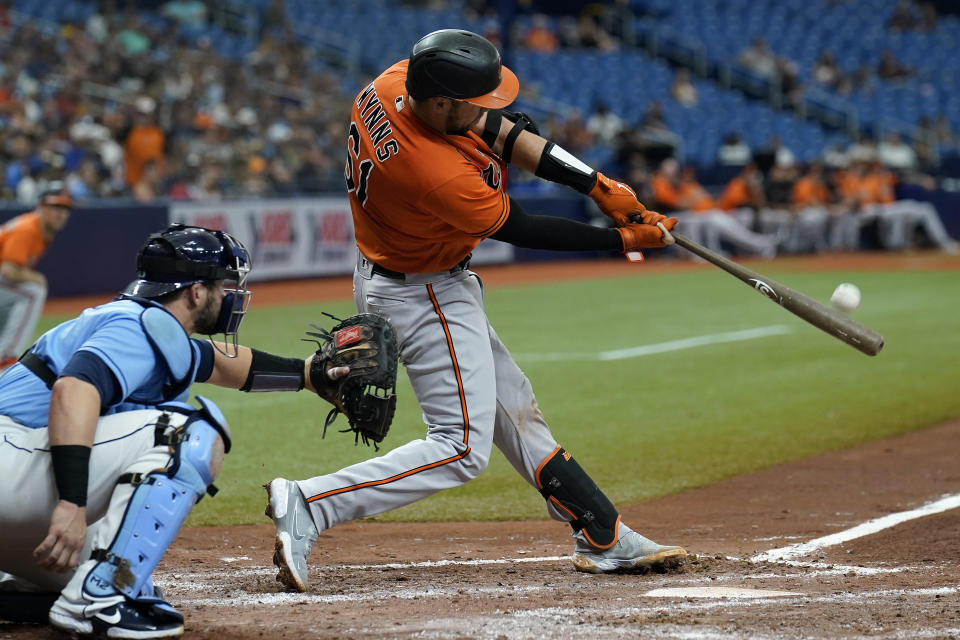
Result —
[[616, 229], [556, 216], [529, 215], [513, 198], [509, 217], [490, 237], [525, 249], [623, 251], [623, 240]]

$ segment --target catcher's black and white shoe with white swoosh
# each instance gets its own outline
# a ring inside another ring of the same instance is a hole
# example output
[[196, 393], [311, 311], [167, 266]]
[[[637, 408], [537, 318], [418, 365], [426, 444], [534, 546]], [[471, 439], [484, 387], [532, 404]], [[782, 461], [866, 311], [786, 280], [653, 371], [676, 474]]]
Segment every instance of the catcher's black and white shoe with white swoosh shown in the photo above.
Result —
[[[174, 615], [175, 614], [175, 615]], [[50, 609], [50, 624], [79, 635], [106, 636], [107, 638], [176, 638], [183, 635], [183, 616], [177, 612], [164, 611], [151, 604], [124, 600], [91, 617], [78, 617], [56, 604]]]

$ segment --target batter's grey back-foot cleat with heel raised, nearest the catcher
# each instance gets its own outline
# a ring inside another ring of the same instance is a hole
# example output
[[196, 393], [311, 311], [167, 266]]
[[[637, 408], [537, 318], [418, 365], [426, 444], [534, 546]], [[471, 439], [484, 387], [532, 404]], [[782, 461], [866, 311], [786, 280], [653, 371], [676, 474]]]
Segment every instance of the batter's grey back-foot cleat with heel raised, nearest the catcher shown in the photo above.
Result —
[[288, 591], [306, 591], [307, 558], [319, 535], [313, 516], [296, 482], [274, 478], [263, 488], [267, 490], [264, 514], [277, 527], [273, 551], [277, 582]]

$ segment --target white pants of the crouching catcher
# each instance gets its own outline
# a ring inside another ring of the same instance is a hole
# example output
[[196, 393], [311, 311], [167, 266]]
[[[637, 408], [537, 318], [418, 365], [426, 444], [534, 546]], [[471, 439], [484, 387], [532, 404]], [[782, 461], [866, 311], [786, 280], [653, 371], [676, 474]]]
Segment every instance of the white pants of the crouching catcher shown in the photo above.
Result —
[[[170, 448], [154, 446], [154, 425], [160, 413], [129, 411], [100, 418], [90, 454], [87, 539], [80, 567], [91, 550], [110, 546], [123, 520], [134, 486], [117, 484], [117, 478], [125, 473], [147, 473], [170, 462]], [[173, 414], [170, 423], [179, 425], [184, 420], [186, 416]], [[50, 514], [59, 499], [47, 429], [28, 429], [0, 416], [0, 469], [4, 475], [0, 485], [0, 571], [35, 588], [60, 591], [76, 572], [41, 569], [33, 557], [33, 550], [47, 535]], [[82, 607], [79, 589], [74, 599]]]

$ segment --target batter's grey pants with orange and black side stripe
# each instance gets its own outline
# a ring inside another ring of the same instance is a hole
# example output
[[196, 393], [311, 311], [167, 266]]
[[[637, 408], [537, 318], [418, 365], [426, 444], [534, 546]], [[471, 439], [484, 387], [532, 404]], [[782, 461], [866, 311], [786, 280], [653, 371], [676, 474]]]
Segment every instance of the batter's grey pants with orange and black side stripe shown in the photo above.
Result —
[[[426, 498], [477, 477], [496, 445], [536, 486], [557, 443], [533, 390], [487, 321], [469, 269], [392, 279], [364, 258], [354, 274], [363, 313], [386, 316], [427, 425], [426, 437], [334, 473], [297, 482], [318, 530]], [[569, 516], [554, 511], [561, 521]]]

